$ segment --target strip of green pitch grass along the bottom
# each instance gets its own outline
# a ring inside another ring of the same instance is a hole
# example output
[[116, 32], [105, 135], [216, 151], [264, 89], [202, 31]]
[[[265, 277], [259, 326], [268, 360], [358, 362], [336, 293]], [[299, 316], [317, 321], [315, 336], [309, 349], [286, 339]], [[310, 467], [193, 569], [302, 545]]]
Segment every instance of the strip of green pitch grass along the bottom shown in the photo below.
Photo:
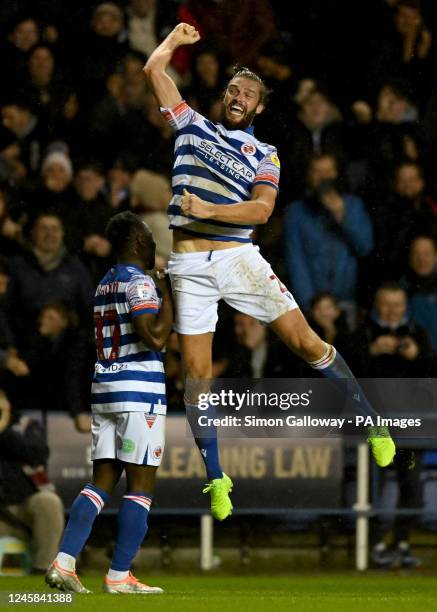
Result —
[[[141, 578], [141, 575], [138, 576]], [[437, 609], [437, 579], [417, 574], [319, 574], [290, 577], [154, 577], [150, 584], [163, 595], [107, 595], [101, 578], [83, 577], [92, 595], [76, 596], [62, 605], [72, 612], [427, 612]], [[0, 577], [1, 610], [49, 610], [60, 605], [5, 604], [6, 593], [46, 590], [43, 577]], [[49, 590], [49, 592], [55, 592]], [[144, 601], [146, 599], [146, 601]]]

